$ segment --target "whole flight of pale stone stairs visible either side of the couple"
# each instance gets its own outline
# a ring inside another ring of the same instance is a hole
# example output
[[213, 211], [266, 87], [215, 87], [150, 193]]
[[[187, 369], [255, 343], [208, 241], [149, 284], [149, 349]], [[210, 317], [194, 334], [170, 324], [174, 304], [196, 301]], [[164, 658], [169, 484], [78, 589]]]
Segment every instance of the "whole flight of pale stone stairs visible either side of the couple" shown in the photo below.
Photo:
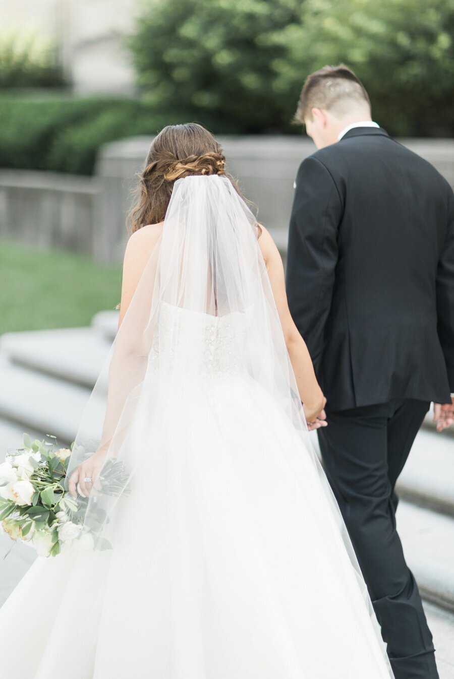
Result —
[[[117, 324], [116, 312], [101, 312], [88, 328], [0, 337], [0, 461], [8, 448], [20, 445], [24, 431], [56, 435], [61, 445], [73, 441]], [[454, 429], [438, 434], [427, 416], [398, 492], [398, 528], [408, 564], [430, 602], [440, 675], [454, 679]], [[0, 536], [0, 557], [9, 547]], [[34, 557], [16, 545], [0, 560], [0, 604]]]

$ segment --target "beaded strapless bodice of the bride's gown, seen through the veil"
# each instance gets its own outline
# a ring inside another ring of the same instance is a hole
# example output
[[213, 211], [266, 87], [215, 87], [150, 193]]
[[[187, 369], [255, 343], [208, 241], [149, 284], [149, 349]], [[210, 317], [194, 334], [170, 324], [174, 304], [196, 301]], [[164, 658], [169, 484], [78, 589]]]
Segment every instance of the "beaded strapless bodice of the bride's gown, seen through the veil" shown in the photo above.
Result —
[[225, 378], [245, 371], [246, 346], [243, 312], [213, 316], [161, 302], [149, 369], [163, 374]]

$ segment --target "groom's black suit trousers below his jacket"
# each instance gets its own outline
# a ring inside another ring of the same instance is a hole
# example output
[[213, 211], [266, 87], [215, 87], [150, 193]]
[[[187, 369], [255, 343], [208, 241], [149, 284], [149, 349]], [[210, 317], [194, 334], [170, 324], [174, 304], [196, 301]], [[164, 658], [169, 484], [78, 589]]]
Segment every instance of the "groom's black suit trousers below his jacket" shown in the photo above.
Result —
[[321, 456], [368, 586], [396, 679], [438, 679], [432, 634], [396, 530], [394, 487], [430, 403], [330, 412]]

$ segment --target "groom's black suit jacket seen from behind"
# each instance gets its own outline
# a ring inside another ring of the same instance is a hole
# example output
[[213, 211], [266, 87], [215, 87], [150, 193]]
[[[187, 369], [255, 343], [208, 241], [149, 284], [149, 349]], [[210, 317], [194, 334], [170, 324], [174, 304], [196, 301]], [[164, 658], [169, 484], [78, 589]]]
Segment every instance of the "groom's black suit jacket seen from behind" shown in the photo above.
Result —
[[454, 196], [381, 128], [298, 170], [290, 311], [332, 410], [454, 392]]

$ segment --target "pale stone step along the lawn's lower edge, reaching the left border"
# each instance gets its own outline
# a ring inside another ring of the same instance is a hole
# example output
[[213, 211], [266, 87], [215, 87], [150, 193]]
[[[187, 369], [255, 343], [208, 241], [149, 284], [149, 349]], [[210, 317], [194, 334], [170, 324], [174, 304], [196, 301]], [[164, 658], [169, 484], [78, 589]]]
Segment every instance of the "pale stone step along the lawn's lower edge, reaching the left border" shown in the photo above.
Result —
[[92, 388], [110, 342], [94, 327], [5, 333], [0, 351], [20, 366]]

